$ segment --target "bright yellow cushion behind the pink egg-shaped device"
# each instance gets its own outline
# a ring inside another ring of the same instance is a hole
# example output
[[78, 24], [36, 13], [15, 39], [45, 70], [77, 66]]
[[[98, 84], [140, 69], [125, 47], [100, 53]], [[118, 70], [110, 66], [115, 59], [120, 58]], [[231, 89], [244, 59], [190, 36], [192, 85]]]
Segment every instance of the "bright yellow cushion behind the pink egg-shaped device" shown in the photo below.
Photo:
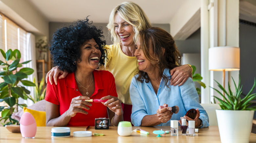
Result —
[[36, 122], [36, 126], [38, 127], [44, 127], [45, 126], [45, 122], [46, 122], [46, 115], [44, 111], [36, 111], [36, 110], [32, 110], [32, 109], [28, 109], [26, 107], [23, 107], [23, 111], [24, 112], [29, 112], [33, 115], [35, 122]]

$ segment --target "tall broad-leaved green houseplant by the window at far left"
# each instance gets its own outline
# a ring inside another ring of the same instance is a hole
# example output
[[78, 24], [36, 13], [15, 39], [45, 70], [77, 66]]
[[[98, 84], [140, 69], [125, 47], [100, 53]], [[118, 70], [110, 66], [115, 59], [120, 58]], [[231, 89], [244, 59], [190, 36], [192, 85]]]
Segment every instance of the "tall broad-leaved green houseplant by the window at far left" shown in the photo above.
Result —
[[28, 75], [34, 72], [31, 68], [22, 68], [23, 64], [29, 63], [25, 61], [20, 63], [21, 54], [19, 50], [12, 51], [9, 49], [6, 53], [2, 50], [2, 56], [5, 58], [5, 61], [0, 60], [0, 65], [4, 66], [3, 71], [0, 72], [0, 77], [3, 78], [4, 82], [0, 84], [0, 102], [5, 101], [8, 106], [1, 106], [0, 111], [2, 111], [2, 118], [4, 123], [9, 119], [9, 122], [6, 124], [18, 124], [18, 121], [11, 118], [11, 114], [18, 106], [27, 106], [26, 104], [19, 104], [18, 98], [27, 100], [29, 98], [28, 94], [30, 91], [24, 86], [35, 86], [31, 81], [25, 80]]

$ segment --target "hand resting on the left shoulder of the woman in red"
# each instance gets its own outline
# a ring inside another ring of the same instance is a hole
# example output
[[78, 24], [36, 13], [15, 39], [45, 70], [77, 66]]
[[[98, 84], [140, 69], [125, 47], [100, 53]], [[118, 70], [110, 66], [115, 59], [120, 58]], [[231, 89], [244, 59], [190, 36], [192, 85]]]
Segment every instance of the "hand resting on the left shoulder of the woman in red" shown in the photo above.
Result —
[[59, 73], [61, 73], [62, 75], [59, 76], [59, 79], [62, 79], [64, 77], [67, 76], [68, 72], [64, 72], [64, 71], [61, 71], [57, 66], [56, 67], [53, 67], [47, 74], [46, 74], [46, 83], [48, 83], [48, 77], [49, 77], [49, 81], [50, 81], [50, 84], [52, 85], [53, 84], [53, 80], [55, 82], [55, 84], [57, 85], [58, 81], [57, 81], [57, 77], [59, 75]]

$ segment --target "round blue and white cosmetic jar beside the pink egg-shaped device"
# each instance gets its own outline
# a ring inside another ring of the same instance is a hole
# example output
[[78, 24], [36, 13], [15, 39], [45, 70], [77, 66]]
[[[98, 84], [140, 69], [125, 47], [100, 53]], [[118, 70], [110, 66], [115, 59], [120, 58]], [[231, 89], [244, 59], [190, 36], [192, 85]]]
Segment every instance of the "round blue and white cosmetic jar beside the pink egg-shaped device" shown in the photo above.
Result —
[[70, 136], [69, 127], [52, 128], [52, 137], [69, 137], [69, 136]]

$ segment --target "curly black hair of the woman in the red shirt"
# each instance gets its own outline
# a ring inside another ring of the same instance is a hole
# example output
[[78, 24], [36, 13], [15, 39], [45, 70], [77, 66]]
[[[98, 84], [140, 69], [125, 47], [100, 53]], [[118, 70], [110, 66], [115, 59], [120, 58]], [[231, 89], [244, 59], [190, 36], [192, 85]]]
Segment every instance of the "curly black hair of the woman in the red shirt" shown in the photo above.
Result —
[[106, 41], [103, 40], [102, 30], [92, 26], [92, 21], [88, 17], [85, 20], [78, 20], [72, 25], [58, 29], [53, 34], [51, 41], [51, 55], [53, 64], [58, 66], [60, 70], [67, 72], [75, 72], [76, 64], [73, 62], [81, 61], [80, 47], [86, 40], [94, 39], [99, 46], [101, 56], [99, 58], [99, 66], [104, 65], [107, 51], [104, 48]]

